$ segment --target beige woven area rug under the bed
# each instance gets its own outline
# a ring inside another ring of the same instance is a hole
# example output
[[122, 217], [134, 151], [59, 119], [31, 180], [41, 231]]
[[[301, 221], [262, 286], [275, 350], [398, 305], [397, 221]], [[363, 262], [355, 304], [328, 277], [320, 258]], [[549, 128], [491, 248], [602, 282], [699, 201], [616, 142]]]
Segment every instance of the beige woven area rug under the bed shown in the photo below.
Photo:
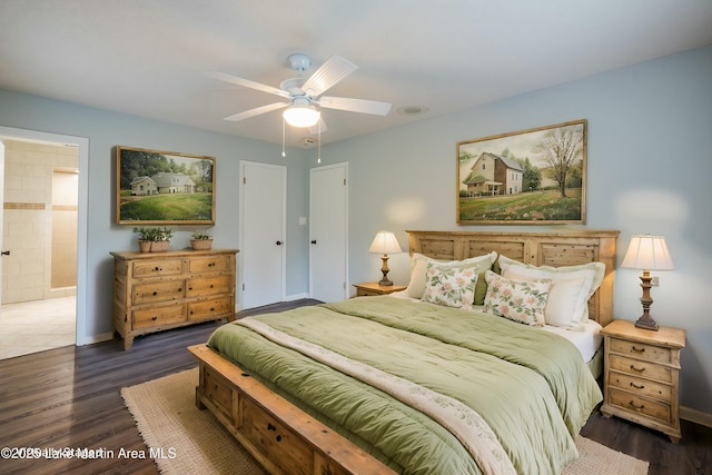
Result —
[[[144, 442], [164, 474], [264, 475], [266, 472], [208, 412], [195, 404], [198, 369], [177, 373], [121, 389]], [[581, 457], [566, 475], [645, 475], [639, 461], [578, 436]]]

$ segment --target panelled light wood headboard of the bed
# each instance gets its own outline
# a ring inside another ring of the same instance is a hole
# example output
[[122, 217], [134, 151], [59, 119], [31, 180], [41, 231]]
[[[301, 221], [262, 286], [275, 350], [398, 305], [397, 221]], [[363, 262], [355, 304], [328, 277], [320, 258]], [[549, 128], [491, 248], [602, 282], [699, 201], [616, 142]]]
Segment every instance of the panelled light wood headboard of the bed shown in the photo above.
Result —
[[605, 265], [601, 287], [589, 301], [589, 317], [605, 326], [613, 320], [615, 241], [620, 231], [581, 229], [566, 232], [406, 231], [411, 255], [462, 260], [493, 250], [535, 266]]

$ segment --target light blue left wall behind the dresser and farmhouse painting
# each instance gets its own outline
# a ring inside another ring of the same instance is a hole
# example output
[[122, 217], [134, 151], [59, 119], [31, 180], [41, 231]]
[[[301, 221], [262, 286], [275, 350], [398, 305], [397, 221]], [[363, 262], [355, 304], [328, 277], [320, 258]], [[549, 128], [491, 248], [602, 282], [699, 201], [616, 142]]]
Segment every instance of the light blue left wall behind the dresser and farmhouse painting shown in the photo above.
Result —
[[[0, 126], [89, 139], [87, 325], [89, 340], [112, 330], [113, 261], [109, 251], [138, 250], [131, 226], [115, 224], [117, 145], [216, 157], [216, 248], [239, 248], [239, 162], [287, 166], [287, 295], [308, 293], [308, 164], [305, 150], [157, 122], [134, 116], [0, 90]], [[87, 170], [80, 170], [87, 172]], [[171, 248], [189, 245], [191, 230], [177, 230]], [[195, 228], [191, 228], [195, 229]], [[238, 261], [239, 261], [238, 254]], [[239, 293], [238, 293], [239, 295]]]

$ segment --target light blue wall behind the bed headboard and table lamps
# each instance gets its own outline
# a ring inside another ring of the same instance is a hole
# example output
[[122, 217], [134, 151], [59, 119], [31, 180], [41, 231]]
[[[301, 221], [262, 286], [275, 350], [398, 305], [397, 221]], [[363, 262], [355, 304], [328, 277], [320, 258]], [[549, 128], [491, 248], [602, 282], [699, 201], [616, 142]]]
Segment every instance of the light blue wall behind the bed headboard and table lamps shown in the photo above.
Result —
[[[621, 230], [619, 264], [631, 235], [666, 237], [675, 270], [657, 273], [652, 314], [686, 329], [682, 404], [712, 414], [712, 47], [325, 147], [325, 162], [349, 164], [349, 279], [379, 277], [368, 246], [382, 228], [397, 231], [404, 250], [405, 229], [458, 229], [457, 141], [574, 119], [589, 121], [585, 227]], [[406, 254], [389, 267], [407, 284]], [[616, 318], [641, 315], [639, 276], [616, 271]]]

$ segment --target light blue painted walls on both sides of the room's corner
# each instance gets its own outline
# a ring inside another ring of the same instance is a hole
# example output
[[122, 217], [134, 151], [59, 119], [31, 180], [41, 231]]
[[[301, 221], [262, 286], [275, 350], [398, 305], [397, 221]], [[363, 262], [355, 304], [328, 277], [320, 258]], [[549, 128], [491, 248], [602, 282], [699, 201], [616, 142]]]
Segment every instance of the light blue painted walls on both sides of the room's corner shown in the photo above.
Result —
[[[589, 228], [620, 229], [619, 263], [633, 234], [666, 236], [675, 270], [660, 273], [652, 313], [688, 330], [682, 405], [712, 414], [712, 317], [705, 298], [712, 265], [712, 47], [563, 86], [342, 141], [322, 150], [324, 165], [349, 164], [349, 279], [379, 277], [367, 253], [378, 229], [458, 229], [455, 144], [507, 131], [589, 120]], [[476, 87], [476, 79], [473, 79]], [[113, 224], [112, 147], [128, 145], [216, 156], [216, 247], [239, 247], [239, 160], [286, 162], [287, 294], [308, 291], [308, 170], [312, 154], [0, 90], [0, 126], [88, 137], [89, 236], [87, 335], [111, 329], [110, 250], [135, 248], [130, 228]], [[464, 227], [543, 230], [543, 227]], [[179, 234], [177, 246], [189, 232]], [[390, 258], [390, 277], [407, 283], [407, 255]], [[641, 313], [639, 271], [619, 269], [615, 314]]]

